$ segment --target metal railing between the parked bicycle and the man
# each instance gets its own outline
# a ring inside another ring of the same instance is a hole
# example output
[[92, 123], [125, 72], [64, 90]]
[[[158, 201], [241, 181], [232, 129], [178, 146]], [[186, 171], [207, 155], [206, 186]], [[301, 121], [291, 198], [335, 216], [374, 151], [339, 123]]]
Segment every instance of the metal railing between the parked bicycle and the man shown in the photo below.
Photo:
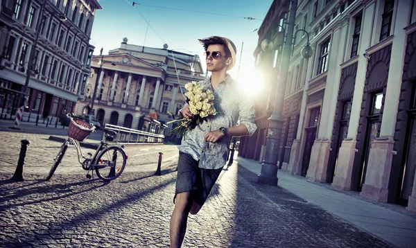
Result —
[[[120, 127], [117, 125], [105, 124], [105, 129], [113, 130], [117, 133], [114, 137], [116, 143], [163, 143], [165, 125], [160, 125], [154, 129], [150, 129], [150, 132], [144, 132], [127, 127]], [[103, 134], [104, 135], [104, 134]]]

